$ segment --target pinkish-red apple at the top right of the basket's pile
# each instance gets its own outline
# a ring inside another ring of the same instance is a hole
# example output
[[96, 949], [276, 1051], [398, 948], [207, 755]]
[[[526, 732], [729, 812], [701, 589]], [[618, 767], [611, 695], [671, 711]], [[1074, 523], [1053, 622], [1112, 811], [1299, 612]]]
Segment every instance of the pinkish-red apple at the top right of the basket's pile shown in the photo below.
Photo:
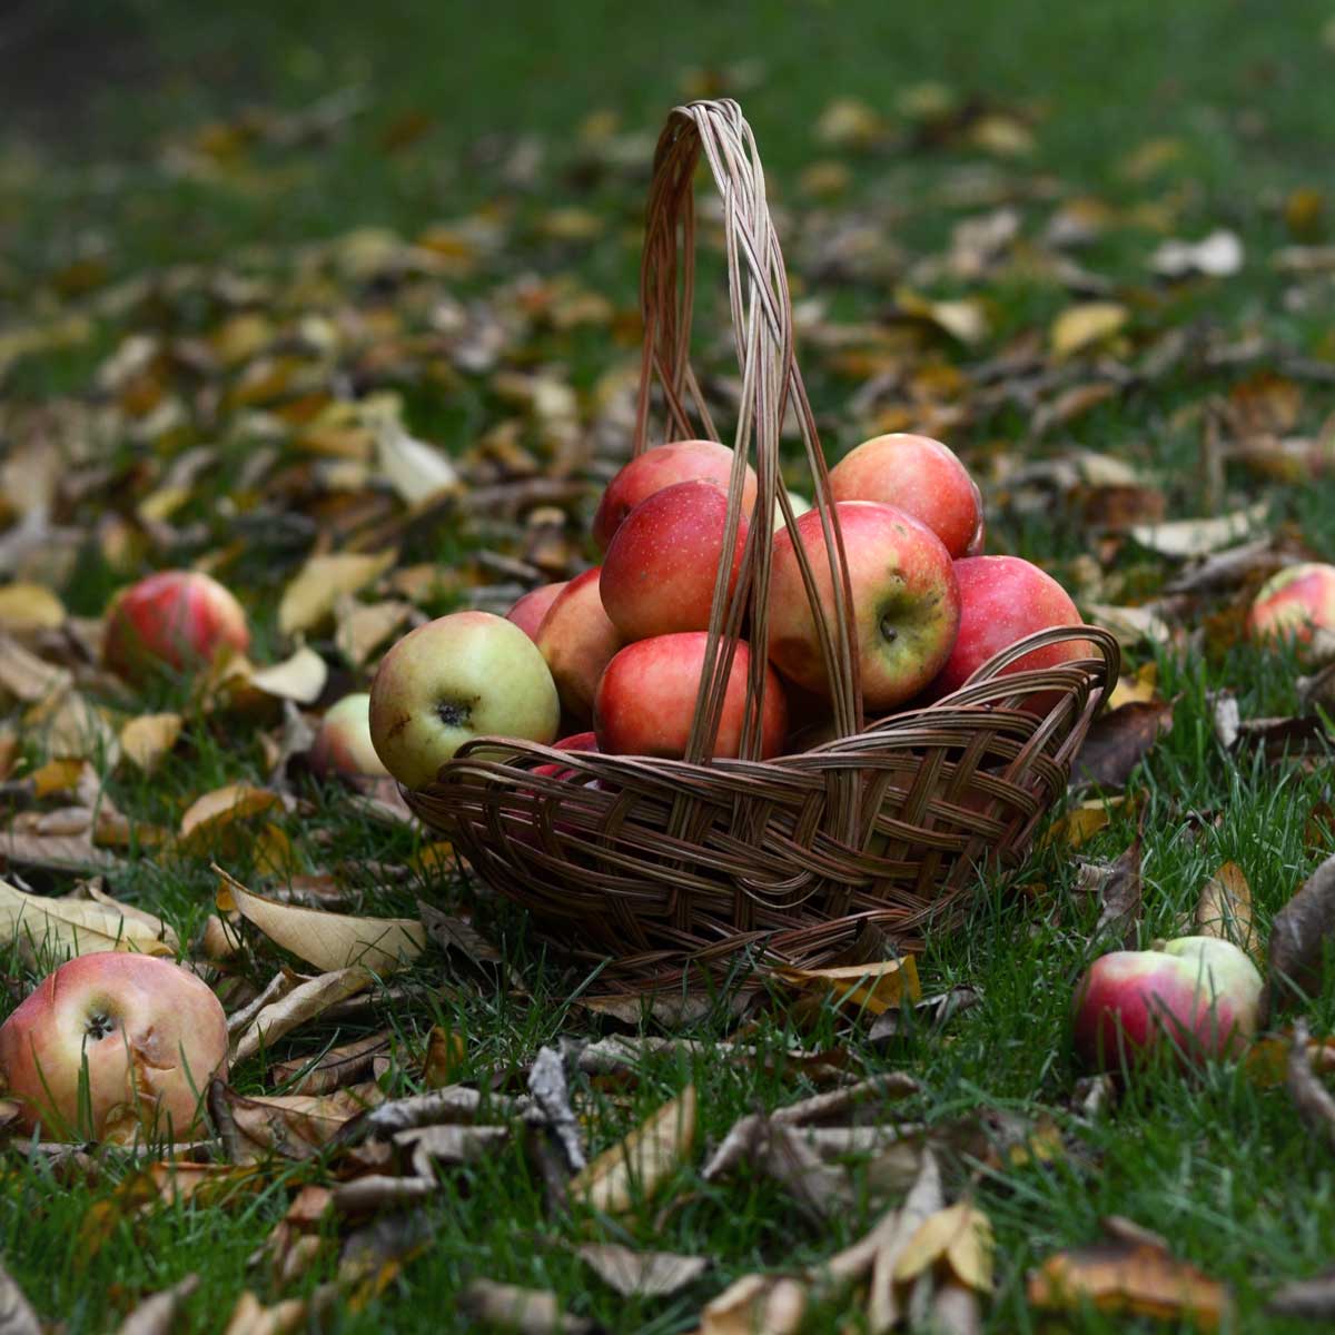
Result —
[[921, 519], [952, 558], [983, 550], [983, 495], [955, 451], [896, 431], [864, 441], [830, 469], [836, 501], [880, 501]]

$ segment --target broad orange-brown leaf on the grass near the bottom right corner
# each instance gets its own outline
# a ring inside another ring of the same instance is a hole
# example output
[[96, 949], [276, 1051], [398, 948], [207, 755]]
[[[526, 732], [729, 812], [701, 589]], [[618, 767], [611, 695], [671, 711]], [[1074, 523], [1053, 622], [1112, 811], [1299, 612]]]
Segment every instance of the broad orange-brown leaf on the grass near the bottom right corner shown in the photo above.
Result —
[[1056, 1252], [1029, 1272], [1035, 1307], [1100, 1311], [1161, 1320], [1192, 1320], [1215, 1330], [1232, 1310], [1226, 1286], [1148, 1242], [1111, 1238], [1092, 1247]]

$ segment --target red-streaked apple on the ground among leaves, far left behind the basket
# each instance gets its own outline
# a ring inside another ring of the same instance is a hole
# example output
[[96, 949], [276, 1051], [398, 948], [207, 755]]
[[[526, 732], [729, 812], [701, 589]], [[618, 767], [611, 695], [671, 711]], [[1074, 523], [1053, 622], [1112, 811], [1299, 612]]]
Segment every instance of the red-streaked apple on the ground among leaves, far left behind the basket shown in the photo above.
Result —
[[227, 589], [198, 570], [148, 575], [107, 610], [103, 661], [127, 681], [155, 668], [203, 668], [227, 647], [250, 649], [246, 613]]

